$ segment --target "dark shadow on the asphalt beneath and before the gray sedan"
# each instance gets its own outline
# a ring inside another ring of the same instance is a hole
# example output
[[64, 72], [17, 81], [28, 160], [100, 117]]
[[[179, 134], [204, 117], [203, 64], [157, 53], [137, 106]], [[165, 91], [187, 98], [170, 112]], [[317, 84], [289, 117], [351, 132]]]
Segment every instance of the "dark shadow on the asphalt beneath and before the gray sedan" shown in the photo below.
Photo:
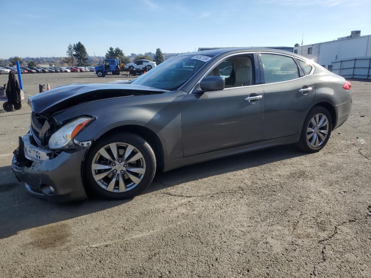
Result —
[[[305, 155], [294, 145], [279, 146], [158, 173], [142, 195], [210, 176], [249, 169]], [[132, 199], [109, 201], [95, 197], [75, 203], [51, 203], [30, 196], [23, 183], [17, 182], [11, 166], [0, 167], [0, 238], [30, 228], [72, 219], [123, 205]]]

